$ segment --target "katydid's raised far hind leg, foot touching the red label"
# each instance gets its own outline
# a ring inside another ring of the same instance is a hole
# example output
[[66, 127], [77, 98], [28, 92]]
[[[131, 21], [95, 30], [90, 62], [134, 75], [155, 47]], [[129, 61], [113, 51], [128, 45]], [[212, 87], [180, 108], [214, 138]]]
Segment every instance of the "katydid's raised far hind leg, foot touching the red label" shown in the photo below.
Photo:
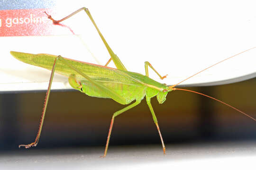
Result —
[[90, 11], [89, 11], [88, 8], [85, 8], [85, 7], [80, 8], [80, 9], [76, 10], [75, 12], [73, 12], [72, 14], [70, 14], [70, 15], [68, 15], [68, 16], [66, 16], [66, 17], [64, 17], [64, 18], [62, 18], [62, 19], [60, 19], [60, 20], [55, 20], [55, 19], [52, 18], [52, 16], [48, 15], [46, 12], [45, 12], [45, 13], [46, 13], [46, 15], [48, 16], [48, 18], [53, 21], [54, 24], [57, 24], [57, 23], [60, 23], [60, 22], [62, 22], [62, 21], [64, 21], [64, 20], [68, 19], [69, 17], [72, 17], [73, 15], [77, 14], [78, 12], [80, 12], [80, 11], [82, 11], [82, 10], [85, 11], [86, 14], [88, 15], [88, 17], [91, 19], [91, 22], [92, 22], [93, 26], [96, 28], [98, 34], [99, 34], [100, 37], [101, 37], [101, 40], [103, 41], [103, 43], [105, 44], [107, 50], [109, 51], [110, 57], [111, 57], [111, 59], [113, 60], [113, 62], [114, 62], [114, 64], [116, 65], [116, 67], [117, 67], [118, 69], [120, 69], [120, 70], [127, 70], [127, 69], [124, 67], [124, 65], [123, 65], [123, 63], [121, 62], [121, 60], [118, 58], [118, 56], [112, 51], [112, 49], [110, 48], [109, 44], [107, 43], [107, 41], [105, 40], [105, 38], [104, 38], [103, 35], [101, 34], [101, 31], [99, 30], [98, 26], [96, 25], [95, 21], [93, 20], [93, 18], [92, 18], [92, 16], [91, 16], [91, 13], [90, 13]]

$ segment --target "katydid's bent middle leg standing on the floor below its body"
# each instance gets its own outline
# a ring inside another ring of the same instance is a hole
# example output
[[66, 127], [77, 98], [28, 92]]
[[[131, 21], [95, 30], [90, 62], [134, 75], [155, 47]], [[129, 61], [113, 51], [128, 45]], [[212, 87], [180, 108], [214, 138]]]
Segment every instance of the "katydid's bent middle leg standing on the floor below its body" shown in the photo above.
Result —
[[110, 135], [111, 135], [111, 132], [112, 132], [112, 127], [113, 127], [113, 124], [114, 124], [114, 119], [116, 116], [120, 115], [121, 113], [137, 106], [141, 101], [140, 100], [136, 100], [136, 102], [128, 105], [127, 107], [125, 107], [124, 109], [121, 109], [119, 111], [116, 111], [113, 116], [112, 116], [112, 119], [111, 119], [111, 123], [110, 123], [110, 130], [109, 130], [109, 134], [108, 134], [108, 138], [107, 138], [107, 143], [106, 143], [106, 147], [105, 147], [105, 151], [104, 151], [104, 155], [101, 156], [101, 157], [105, 157], [107, 155], [107, 152], [108, 152], [108, 148], [109, 148], [109, 143], [110, 143]]

